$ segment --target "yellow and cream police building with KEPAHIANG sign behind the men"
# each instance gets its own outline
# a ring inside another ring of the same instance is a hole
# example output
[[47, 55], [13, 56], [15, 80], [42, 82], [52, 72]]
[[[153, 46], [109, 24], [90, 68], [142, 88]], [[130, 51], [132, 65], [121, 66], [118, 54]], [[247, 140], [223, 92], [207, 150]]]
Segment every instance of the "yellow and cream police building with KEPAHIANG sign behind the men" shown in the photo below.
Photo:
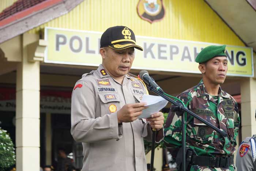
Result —
[[[82, 147], [70, 134], [71, 92], [83, 73], [101, 64], [100, 36], [116, 25], [131, 28], [144, 48], [135, 52], [131, 72], [146, 69], [170, 95], [200, 81], [195, 58], [203, 47], [226, 44], [222, 89], [240, 106], [237, 141], [255, 134], [253, 1], [41, 0], [9, 14], [20, 2], [26, 0], [0, 2], [0, 127], [14, 140], [17, 170], [53, 165], [59, 147], [82, 166]], [[156, 155], [161, 170], [162, 152]]]

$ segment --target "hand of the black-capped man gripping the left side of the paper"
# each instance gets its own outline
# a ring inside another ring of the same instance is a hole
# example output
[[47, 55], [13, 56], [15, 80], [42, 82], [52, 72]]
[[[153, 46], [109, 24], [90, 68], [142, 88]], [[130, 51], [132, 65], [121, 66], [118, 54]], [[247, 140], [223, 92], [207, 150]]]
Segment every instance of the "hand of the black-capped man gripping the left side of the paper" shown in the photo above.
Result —
[[145, 102], [125, 104], [117, 111], [118, 123], [135, 121], [142, 114], [142, 110], [147, 108], [146, 104]]

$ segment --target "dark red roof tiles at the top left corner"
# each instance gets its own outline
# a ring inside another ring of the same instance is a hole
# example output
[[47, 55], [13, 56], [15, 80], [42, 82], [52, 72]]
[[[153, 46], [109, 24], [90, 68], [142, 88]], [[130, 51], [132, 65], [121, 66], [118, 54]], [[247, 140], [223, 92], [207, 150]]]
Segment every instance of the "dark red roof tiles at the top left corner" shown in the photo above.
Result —
[[18, 0], [0, 13], [0, 21], [46, 0]]

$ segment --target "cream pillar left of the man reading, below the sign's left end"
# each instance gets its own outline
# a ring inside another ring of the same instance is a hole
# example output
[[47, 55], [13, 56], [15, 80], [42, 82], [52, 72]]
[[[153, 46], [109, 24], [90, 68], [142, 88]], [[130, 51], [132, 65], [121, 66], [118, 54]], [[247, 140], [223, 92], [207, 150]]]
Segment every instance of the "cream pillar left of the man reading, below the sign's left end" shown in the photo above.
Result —
[[28, 62], [27, 45], [39, 38], [23, 34], [22, 62], [16, 78], [16, 170], [39, 171], [40, 167], [40, 63]]

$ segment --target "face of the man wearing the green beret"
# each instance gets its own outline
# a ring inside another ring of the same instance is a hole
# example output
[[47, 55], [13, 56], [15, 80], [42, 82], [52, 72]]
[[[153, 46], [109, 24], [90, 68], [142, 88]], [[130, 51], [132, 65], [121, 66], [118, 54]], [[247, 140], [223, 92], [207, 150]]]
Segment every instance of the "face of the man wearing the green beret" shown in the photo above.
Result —
[[212, 84], [222, 84], [224, 83], [227, 75], [227, 58], [214, 57], [211, 60], [207, 61], [206, 64], [202, 67], [200, 71], [204, 73], [204, 78]]

